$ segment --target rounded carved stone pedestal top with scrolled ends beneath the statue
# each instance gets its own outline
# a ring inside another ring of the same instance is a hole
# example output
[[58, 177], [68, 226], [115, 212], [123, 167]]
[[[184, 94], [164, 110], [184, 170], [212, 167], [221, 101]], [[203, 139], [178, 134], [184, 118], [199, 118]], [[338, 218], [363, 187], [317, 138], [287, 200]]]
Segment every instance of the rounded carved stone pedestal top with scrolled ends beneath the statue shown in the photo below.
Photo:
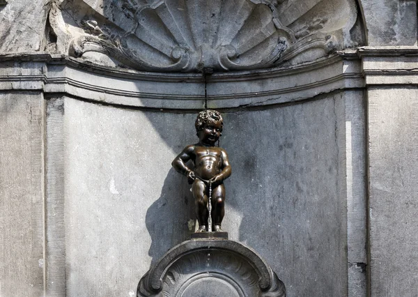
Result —
[[253, 250], [235, 241], [185, 241], [141, 278], [143, 296], [285, 297], [283, 282]]

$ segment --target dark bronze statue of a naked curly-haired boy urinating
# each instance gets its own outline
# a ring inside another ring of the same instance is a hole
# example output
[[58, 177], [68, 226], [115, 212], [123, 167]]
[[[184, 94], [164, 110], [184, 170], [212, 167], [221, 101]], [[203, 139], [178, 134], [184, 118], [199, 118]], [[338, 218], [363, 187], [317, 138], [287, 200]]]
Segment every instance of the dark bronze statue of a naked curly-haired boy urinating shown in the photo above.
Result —
[[[224, 180], [231, 176], [231, 165], [226, 151], [215, 146], [222, 135], [223, 125], [224, 120], [219, 112], [210, 109], [200, 112], [194, 123], [199, 142], [186, 146], [171, 163], [192, 184], [196, 217], [199, 221], [197, 232], [212, 231], [212, 224], [214, 231], [222, 231]], [[186, 165], [189, 160], [194, 164], [193, 170]]]

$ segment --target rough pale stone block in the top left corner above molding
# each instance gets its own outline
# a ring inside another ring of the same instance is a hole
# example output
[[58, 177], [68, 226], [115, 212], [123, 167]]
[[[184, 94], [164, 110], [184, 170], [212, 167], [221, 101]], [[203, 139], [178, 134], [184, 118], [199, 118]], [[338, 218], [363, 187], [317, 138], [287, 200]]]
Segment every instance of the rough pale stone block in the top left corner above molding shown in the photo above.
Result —
[[43, 50], [47, 2], [13, 0], [0, 6], [0, 52]]

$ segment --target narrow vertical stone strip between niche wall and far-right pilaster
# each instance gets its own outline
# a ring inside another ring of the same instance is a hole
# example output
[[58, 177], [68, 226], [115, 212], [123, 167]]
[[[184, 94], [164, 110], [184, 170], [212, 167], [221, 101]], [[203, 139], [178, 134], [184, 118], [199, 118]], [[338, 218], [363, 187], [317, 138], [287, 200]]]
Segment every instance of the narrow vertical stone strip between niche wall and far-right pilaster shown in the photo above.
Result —
[[346, 169], [343, 178], [347, 197], [347, 245], [348, 245], [348, 296], [366, 296], [366, 126], [363, 91], [347, 91], [345, 97], [346, 141], [341, 148], [345, 151], [343, 163], [339, 167]]

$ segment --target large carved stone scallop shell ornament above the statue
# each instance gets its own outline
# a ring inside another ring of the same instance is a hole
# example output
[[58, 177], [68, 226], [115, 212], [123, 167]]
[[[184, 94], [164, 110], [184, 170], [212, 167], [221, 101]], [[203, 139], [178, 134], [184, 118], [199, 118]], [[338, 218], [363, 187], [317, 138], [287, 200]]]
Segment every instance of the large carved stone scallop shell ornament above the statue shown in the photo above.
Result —
[[[327, 15], [328, 2], [343, 12], [338, 20]], [[153, 72], [249, 70], [339, 49], [343, 29], [357, 19], [351, 2], [64, 0], [55, 1], [49, 20], [59, 52], [93, 63]]]

